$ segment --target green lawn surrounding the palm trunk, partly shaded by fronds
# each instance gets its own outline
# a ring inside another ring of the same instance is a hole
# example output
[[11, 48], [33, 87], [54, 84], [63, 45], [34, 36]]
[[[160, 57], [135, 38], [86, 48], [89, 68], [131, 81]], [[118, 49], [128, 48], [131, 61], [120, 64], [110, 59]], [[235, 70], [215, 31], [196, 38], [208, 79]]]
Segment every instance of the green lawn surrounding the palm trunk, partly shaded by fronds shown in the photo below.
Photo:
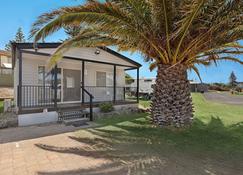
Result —
[[242, 173], [243, 108], [192, 96], [195, 119], [190, 128], [157, 128], [148, 114], [133, 114], [100, 119], [99, 126], [80, 130], [72, 139], [87, 145], [87, 155], [112, 162], [103, 169], [121, 167], [130, 174]]

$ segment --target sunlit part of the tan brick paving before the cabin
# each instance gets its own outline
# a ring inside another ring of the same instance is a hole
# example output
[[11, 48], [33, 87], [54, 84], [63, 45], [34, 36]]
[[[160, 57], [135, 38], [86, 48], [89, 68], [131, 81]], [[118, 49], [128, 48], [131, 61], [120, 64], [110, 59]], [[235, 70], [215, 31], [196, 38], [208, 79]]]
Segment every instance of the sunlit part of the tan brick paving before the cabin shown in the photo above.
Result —
[[[1, 131], [0, 131], [1, 132]], [[55, 172], [69, 172], [77, 169], [89, 169], [109, 163], [103, 158], [93, 158], [77, 154], [61, 153], [44, 150], [36, 144], [79, 149], [85, 143], [70, 138], [73, 133], [41, 137], [0, 144], [0, 174], [55, 174]], [[60, 174], [60, 173], [59, 173]], [[80, 173], [78, 173], [80, 174]]]

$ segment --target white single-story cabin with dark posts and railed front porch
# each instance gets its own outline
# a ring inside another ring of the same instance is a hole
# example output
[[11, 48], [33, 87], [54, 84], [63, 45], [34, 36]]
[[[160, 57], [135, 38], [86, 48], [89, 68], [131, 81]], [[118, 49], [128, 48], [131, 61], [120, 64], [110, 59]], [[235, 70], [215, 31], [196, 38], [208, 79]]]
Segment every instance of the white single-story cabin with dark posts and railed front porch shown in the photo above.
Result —
[[[50, 68], [61, 43], [13, 43], [14, 102], [20, 126], [93, 119], [99, 104], [115, 109], [137, 108], [138, 96], [127, 97], [125, 71], [141, 65], [107, 47], [72, 48]], [[139, 88], [139, 83], [134, 89]]]

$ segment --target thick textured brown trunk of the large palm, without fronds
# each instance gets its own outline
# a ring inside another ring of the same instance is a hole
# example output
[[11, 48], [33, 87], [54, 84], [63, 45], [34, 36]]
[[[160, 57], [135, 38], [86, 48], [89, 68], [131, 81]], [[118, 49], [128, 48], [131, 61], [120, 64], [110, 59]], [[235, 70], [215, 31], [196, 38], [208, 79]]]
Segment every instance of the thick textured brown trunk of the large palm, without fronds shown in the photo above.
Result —
[[158, 65], [151, 114], [152, 121], [159, 126], [183, 127], [191, 124], [193, 106], [184, 65]]

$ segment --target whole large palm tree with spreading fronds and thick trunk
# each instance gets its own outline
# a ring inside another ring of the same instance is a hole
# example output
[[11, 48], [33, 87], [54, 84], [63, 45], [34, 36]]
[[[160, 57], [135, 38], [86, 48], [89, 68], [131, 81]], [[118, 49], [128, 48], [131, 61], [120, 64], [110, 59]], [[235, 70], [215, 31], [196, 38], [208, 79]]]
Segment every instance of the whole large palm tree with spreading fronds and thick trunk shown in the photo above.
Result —
[[31, 36], [38, 42], [62, 27], [85, 26], [57, 49], [52, 64], [70, 47], [140, 52], [157, 68], [152, 121], [182, 127], [193, 118], [187, 70], [199, 75], [197, 64], [221, 60], [243, 64], [236, 58], [243, 53], [242, 9], [242, 0], [89, 0], [41, 15]]

